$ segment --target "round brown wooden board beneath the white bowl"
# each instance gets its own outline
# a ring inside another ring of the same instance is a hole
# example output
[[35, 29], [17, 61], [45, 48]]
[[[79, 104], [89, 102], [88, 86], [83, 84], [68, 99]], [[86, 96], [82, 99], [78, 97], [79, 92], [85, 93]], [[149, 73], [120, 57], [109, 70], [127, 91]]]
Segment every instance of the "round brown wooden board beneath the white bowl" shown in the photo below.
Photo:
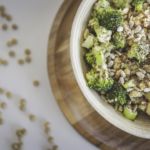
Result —
[[89, 105], [76, 83], [70, 62], [69, 39], [80, 3], [81, 0], [63, 3], [49, 38], [48, 73], [55, 98], [70, 124], [97, 147], [103, 150], [150, 150], [150, 140], [129, 135], [104, 120]]

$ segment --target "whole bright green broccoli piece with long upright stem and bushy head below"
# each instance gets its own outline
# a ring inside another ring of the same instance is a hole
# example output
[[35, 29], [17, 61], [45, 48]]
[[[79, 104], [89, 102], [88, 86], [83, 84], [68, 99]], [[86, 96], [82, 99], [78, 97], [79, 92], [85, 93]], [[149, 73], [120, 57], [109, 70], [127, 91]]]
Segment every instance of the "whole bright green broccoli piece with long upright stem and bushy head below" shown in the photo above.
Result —
[[[104, 52], [95, 47], [93, 55], [88, 61], [92, 62], [93, 69], [86, 74], [88, 86], [96, 91], [108, 91], [114, 84], [114, 80], [109, 77], [107, 65], [105, 62]], [[94, 64], [93, 64], [94, 61]], [[91, 63], [90, 62], [90, 63]], [[98, 68], [98, 69], [97, 69]]]

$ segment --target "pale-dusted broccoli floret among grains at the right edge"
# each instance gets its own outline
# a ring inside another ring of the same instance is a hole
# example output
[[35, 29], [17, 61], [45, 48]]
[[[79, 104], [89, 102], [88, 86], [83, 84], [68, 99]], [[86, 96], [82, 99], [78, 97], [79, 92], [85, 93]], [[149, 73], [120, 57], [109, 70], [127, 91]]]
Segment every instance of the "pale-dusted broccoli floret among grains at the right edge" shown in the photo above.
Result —
[[146, 59], [146, 56], [149, 54], [150, 47], [149, 45], [140, 45], [138, 43], [134, 43], [128, 51], [128, 58], [136, 59], [139, 62], [143, 62]]

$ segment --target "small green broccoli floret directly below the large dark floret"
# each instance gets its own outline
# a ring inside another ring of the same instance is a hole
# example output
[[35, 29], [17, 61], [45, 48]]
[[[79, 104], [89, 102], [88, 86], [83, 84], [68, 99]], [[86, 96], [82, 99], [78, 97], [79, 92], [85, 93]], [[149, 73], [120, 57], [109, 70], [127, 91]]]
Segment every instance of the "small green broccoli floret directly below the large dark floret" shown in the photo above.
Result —
[[126, 45], [126, 39], [121, 32], [116, 32], [113, 35], [113, 43], [117, 49], [124, 48]]

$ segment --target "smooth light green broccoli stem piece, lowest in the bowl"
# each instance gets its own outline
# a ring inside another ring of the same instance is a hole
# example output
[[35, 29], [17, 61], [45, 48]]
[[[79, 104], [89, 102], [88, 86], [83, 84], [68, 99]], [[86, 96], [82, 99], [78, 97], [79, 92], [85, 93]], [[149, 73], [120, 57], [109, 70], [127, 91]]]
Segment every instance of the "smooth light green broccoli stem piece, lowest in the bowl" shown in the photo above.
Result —
[[130, 107], [125, 106], [124, 107], [124, 111], [123, 111], [123, 115], [129, 119], [134, 121], [138, 115], [137, 111], [133, 111]]

